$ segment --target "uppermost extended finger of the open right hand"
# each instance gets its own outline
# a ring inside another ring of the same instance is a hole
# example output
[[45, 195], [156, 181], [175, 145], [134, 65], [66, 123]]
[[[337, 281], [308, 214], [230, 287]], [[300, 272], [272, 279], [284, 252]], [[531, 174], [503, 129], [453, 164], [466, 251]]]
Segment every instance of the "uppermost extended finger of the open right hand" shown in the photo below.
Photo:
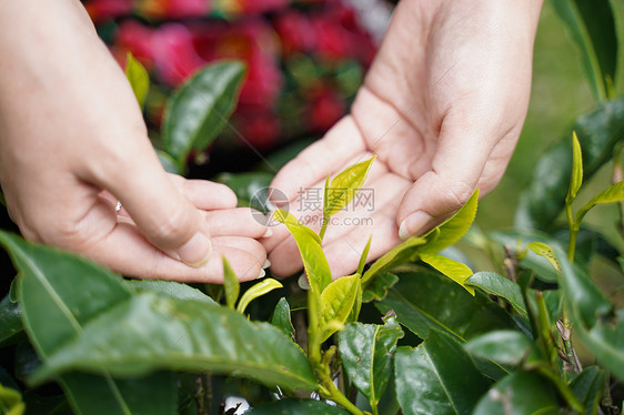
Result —
[[[271, 188], [279, 189], [288, 200], [296, 198], [301, 188], [322, 181], [328, 173], [340, 170], [354, 155], [365, 150], [362, 133], [348, 115], [338, 122], [322, 140], [303, 150], [280, 170]], [[276, 204], [279, 200], [272, 199]]]

